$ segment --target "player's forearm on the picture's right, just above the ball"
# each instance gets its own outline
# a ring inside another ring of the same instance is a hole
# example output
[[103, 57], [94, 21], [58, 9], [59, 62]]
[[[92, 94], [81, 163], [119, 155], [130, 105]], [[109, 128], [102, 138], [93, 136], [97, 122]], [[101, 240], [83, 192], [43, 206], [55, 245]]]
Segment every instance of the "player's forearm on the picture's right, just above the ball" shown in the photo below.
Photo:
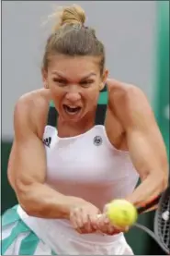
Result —
[[[158, 197], [166, 188], [166, 179], [161, 176], [149, 175], [142, 183], [127, 197], [136, 207], [141, 207]], [[151, 210], [155, 209], [151, 208]]]

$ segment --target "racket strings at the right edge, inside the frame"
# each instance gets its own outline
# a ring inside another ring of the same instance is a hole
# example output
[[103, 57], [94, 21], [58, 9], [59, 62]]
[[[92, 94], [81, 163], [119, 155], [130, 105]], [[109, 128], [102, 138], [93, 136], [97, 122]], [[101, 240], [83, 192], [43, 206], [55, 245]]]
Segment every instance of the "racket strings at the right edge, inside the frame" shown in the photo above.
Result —
[[158, 233], [164, 246], [170, 251], [170, 195], [163, 201], [158, 216]]

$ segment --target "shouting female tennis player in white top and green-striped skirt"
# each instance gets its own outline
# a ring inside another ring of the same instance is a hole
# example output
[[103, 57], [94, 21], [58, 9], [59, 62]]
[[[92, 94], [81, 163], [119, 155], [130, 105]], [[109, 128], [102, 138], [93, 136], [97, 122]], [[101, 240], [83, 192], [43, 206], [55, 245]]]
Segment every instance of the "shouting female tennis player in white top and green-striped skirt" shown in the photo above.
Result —
[[167, 186], [146, 97], [108, 79], [104, 45], [84, 23], [80, 6], [63, 8], [43, 56], [45, 88], [15, 107], [7, 173], [18, 205], [3, 215], [3, 255], [133, 254], [129, 227], [96, 215], [116, 198], [141, 206]]

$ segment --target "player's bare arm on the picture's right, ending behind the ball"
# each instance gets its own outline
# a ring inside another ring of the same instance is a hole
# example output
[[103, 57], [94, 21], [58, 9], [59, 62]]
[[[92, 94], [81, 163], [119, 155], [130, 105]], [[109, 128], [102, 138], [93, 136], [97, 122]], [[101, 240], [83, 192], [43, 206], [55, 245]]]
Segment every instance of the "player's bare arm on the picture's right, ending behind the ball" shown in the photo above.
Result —
[[131, 86], [116, 96], [130, 158], [142, 183], [128, 200], [140, 207], [156, 198], [168, 183], [168, 160], [164, 140], [144, 93]]

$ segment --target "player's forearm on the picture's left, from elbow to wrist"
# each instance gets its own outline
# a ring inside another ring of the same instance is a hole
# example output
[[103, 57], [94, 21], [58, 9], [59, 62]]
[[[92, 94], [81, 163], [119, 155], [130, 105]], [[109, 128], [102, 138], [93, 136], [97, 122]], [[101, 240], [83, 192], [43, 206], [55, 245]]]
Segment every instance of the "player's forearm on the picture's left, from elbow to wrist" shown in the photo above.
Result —
[[18, 189], [17, 199], [28, 215], [51, 219], [68, 219], [71, 207], [83, 201], [62, 195], [46, 184], [37, 183]]

